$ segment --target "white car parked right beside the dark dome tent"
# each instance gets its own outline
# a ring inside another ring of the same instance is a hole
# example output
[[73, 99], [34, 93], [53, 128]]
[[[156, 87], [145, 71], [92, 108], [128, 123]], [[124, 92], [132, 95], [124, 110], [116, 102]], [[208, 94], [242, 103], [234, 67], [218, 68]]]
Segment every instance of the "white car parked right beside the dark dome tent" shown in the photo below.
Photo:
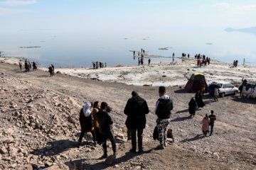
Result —
[[218, 93], [220, 97], [224, 97], [225, 95], [228, 95], [228, 94], [236, 95], [238, 93], [238, 88], [228, 82], [213, 81], [213, 83], [211, 83], [210, 86], [216, 86], [218, 88]]

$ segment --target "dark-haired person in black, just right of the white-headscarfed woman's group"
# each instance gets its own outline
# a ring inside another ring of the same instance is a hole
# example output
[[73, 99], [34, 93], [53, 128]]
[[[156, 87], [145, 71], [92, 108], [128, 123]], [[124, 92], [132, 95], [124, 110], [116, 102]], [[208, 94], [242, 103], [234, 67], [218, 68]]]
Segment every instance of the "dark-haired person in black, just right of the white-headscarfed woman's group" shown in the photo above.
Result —
[[113, 120], [109, 113], [107, 113], [107, 103], [102, 102], [100, 105], [101, 111], [96, 113], [96, 119], [100, 126], [100, 135], [102, 138], [102, 147], [104, 150], [103, 157], [107, 158], [107, 139], [112, 144], [114, 155], [117, 155], [117, 145], [114, 141], [114, 132], [112, 129]]

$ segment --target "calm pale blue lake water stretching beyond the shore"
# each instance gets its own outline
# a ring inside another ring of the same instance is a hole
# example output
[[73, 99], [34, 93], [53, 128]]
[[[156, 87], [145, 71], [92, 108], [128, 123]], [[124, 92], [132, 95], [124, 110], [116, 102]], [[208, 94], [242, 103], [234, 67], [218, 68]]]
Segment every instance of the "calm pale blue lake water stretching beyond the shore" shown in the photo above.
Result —
[[[212, 43], [209, 45], [207, 43]], [[95, 31], [65, 32], [63, 30], [19, 30], [16, 33], [0, 33], [0, 51], [7, 57], [26, 57], [41, 63], [42, 67], [92, 67], [92, 61], [117, 64], [137, 64], [129, 50], [143, 48], [149, 55], [181, 57], [181, 53], [197, 53], [233, 63], [256, 64], [256, 35], [226, 32], [215, 29], [146, 30], [140, 33], [107, 33]], [[19, 48], [41, 46], [40, 48]], [[172, 47], [159, 50], [160, 47]], [[171, 58], [152, 59], [151, 62], [171, 62]], [[145, 61], [147, 62], [147, 61]]]

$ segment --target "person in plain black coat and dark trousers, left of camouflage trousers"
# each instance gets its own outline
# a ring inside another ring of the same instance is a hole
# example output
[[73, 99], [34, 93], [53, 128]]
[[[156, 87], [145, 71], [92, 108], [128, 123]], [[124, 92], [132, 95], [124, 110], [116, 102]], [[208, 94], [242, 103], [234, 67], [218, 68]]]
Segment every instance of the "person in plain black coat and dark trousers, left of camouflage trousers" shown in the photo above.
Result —
[[139, 153], [143, 152], [142, 149], [142, 133], [146, 125], [146, 114], [149, 113], [144, 98], [141, 98], [137, 92], [132, 91], [132, 98], [129, 98], [127, 105], [124, 108], [124, 114], [127, 115], [125, 125], [130, 130], [132, 135], [132, 149], [131, 152], [136, 152], [136, 131], [138, 136]]

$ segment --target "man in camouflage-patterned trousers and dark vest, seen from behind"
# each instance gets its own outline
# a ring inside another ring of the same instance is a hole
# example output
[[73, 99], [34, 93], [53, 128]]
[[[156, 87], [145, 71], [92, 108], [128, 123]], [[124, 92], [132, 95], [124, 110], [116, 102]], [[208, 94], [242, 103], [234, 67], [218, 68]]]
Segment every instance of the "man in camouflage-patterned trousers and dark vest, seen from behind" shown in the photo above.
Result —
[[167, 146], [167, 132], [166, 128], [169, 125], [171, 110], [173, 109], [173, 102], [168, 95], [164, 86], [159, 87], [160, 98], [156, 102], [156, 126], [159, 131], [160, 149]]

